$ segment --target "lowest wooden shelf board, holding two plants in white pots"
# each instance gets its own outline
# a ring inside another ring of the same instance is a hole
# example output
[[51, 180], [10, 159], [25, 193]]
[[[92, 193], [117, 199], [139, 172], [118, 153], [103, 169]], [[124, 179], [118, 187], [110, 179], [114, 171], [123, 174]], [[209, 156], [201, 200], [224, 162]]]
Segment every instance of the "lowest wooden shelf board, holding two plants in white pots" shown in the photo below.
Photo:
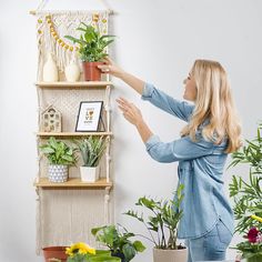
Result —
[[48, 180], [48, 178], [40, 178], [39, 181], [33, 183], [37, 188], [90, 188], [90, 189], [103, 189], [112, 188], [113, 183], [107, 182], [107, 179], [100, 179], [94, 183], [82, 182], [79, 178], [69, 179], [63, 183], [53, 183]]

